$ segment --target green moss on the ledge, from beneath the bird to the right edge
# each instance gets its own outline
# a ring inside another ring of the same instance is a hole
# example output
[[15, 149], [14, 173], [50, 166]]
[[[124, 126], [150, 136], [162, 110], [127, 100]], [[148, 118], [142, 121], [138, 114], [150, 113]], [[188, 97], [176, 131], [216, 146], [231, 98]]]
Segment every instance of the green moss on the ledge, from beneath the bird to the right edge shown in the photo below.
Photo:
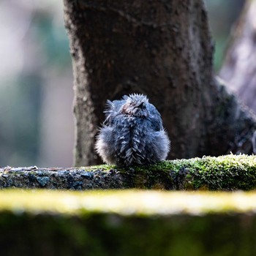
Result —
[[127, 176], [125, 188], [187, 190], [250, 190], [256, 188], [256, 157], [245, 154], [163, 161], [156, 165], [87, 170], [116, 170]]

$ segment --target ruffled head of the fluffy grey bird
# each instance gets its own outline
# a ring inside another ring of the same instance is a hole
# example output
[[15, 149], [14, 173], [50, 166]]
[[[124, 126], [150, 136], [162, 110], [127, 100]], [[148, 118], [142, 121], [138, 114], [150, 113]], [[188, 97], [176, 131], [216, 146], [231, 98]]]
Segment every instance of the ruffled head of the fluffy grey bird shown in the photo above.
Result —
[[143, 94], [130, 94], [124, 96], [124, 105], [121, 107], [121, 113], [127, 116], [136, 116], [140, 118], [148, 117], [148, 98]]

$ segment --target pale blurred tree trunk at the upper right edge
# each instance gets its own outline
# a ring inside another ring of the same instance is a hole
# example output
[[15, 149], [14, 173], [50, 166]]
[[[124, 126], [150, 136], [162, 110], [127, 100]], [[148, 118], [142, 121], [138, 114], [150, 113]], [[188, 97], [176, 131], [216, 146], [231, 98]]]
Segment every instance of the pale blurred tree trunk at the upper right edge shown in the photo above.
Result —
[[247, 1], [233, 32], [219, 75], [238, 98], [256, 113], [255, 14], [256, 0]]

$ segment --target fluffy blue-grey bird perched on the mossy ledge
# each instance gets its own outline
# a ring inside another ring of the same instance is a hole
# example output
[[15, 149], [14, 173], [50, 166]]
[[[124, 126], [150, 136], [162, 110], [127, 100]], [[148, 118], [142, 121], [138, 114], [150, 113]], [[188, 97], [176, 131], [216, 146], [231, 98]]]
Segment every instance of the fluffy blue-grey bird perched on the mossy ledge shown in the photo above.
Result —
[[143, 94], [125, 95], [107, 101], [105, 121], [97, 137], [96, 150], [110, 165], [145, 165], [164, 160], [170, 140], [162, 118]]

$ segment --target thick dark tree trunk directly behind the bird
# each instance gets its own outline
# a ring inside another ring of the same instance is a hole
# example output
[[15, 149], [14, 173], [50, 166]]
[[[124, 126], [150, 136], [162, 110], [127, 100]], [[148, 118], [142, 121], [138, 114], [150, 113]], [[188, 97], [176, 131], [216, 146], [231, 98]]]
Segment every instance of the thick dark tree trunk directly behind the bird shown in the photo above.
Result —
[[203, 1], [64, 0], [75, 75], [75, 165], [99, 162], [107, 99], [146, 94], [162, 114], [169, 158], [252, 151], [255, 117], [214, 79]]

